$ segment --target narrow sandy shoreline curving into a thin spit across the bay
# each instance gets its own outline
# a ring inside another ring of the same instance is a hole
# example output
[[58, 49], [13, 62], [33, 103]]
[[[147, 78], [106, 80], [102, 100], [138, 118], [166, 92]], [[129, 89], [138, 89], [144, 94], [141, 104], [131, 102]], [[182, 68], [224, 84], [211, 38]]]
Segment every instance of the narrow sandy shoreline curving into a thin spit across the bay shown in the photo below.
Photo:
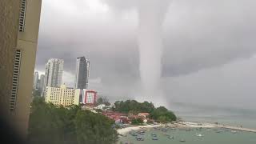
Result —
[[169, 127], [175, 127], [175, 128], [225, 128], [230, 130], [241, 130], [246, 132], [253, 132], [256, 133], [256, 130], [249, 129], [249, 128], [243, 128], [243, 127], [236, 127], [236, 126], [226, 126], [221, 124], [213, 124], [213, 123], [195, 123], [195, 122], [174, 122], [174, 124], [168, 123], [168, 124], [158, 124], [158, 125], [146, 125], [146, 126], [130, 126], [122, 129], [118, 129], [118, 134], [125, 135], [129, 133], [131, 130], [140, 130], [142, 128], [146, 128], [147, 130], [154, 127], [160, 127], [160, 126], [169, 126]]

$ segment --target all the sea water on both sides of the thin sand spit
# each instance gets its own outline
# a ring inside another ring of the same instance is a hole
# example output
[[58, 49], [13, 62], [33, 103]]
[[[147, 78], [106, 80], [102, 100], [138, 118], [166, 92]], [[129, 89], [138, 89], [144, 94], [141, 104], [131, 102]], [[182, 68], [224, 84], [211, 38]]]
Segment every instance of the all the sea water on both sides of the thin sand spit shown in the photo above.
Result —
[[[227, 126], [242, 126], [256, 130], [256, 110], [249, 108], [236, 108], [228, 106], [194, 106], [181, 103], [172, 104], [168, 107], [174, 113], [186, 122], [218, 122]], [[221, 131], [218, 133], [217, 131]], [[152, 140], [152, 135], [156, 134], [158, 140]], [[202, 137], [196, 136], [202, 134]], [[173, 136], [174, 139], [168, 138]], [[231, 130], [222, 130], [221, 128], [202, 129], [202, 130], [171, 130], [166, 132], [162, 130], [150, 129], [145, 135], [140, 135], [144, 141], [137, 141], [136, 137], [127, 134], [127, 137], [120, 137], [119, 143], [141, 143], [141, 144], [256, 144], [256, 133], [238, 131], [233, 133]], [[180, 140], [185, 142], [180, 142]]]

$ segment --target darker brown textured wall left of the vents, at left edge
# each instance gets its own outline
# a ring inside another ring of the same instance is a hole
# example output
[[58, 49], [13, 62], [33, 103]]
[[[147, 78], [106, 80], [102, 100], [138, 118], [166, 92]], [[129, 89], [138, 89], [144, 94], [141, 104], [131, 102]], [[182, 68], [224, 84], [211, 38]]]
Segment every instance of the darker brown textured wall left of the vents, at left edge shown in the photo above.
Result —
[[8, 118], [20, 3], [0, 0], [0, 114]]

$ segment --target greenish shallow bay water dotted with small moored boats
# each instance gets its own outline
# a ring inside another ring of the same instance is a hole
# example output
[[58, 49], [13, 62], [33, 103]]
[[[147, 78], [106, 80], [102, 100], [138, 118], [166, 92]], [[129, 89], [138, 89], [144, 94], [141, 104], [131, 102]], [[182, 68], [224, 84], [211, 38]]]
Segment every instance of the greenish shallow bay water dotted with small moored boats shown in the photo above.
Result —
[[[202, 129], [191, 131], [186, 130], [171, 130], [168, 129], [166, 132], [162, 130], [150, 129], [146, 131], [146, 134], [139, 135], [144, 138], [144, 141], [137, 141], [134, 136], [127, 134], [127, 137], [119, 138], [118, 143], [125, 144], [126, 142], [134, 144], [178, 144], [178, 143], [188, 143], [188, 144], [255, 144], [256, 143], [256, 133], [237, 131], [236, 134], [231, 132], [231, 130], [223, 130], [217, 133], [221, 129]], [[158, 140], [152, 140], [151, 134], [157, 134]], [[202, 134], [202, 137], [196, 136], [196, 134]], [[168, 135], [173, 136], [174, 139], [168, 138]], [[180, 142], [184, 139], [186, 142]]]

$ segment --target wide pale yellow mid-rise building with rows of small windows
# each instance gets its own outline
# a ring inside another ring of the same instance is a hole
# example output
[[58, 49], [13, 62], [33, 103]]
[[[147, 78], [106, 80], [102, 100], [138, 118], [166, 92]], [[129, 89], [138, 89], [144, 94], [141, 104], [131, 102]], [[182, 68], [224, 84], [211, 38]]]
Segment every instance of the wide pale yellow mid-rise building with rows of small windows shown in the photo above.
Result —
[[74, 104], [74, 89], [66, 85], [60, 87], [46, 87], [46, 102], [54, 105], [70, 106]]

